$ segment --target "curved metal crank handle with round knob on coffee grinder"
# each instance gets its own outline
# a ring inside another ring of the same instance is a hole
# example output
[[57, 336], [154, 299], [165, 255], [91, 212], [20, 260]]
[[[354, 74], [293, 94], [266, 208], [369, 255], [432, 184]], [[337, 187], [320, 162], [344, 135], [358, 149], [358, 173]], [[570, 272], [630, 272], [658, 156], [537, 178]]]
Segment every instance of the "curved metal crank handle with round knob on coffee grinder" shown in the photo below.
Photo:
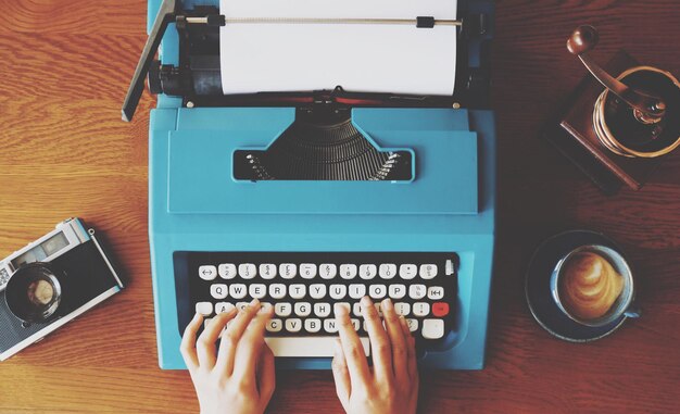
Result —
[[571, 54], [579, 57], [583, 65], [605, 88], [609, 89], [634, 110], [640, 111], [644, 117], [658, 120], [664, 116], [666, 104], [660, 98], [629, 88], [590, 59], [588, 52], [595, 48], [599, 38], [600, 35], [593, 26], [579, 26], [567, 40], [567, 49]]

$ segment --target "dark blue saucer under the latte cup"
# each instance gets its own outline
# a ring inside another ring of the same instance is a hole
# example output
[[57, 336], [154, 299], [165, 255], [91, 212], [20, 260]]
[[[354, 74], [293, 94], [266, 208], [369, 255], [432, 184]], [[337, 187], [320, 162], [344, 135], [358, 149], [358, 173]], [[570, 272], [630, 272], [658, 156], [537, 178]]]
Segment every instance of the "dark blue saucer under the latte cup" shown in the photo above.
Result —
[[549, 238], [539, 246], [527, 271], [525, 291], [531, 314], [545, 330], [570, 342], [590, 342], [606, 337], [626, 321], [626, 315], [621, 315], [605, 326], [583, 326], [562, 313], [553, 300], [550, 289], [553, 268], [565, 254], [584, 244], [606, 246], [620, 252], [614, 241], [600, 233], [565, 231]]

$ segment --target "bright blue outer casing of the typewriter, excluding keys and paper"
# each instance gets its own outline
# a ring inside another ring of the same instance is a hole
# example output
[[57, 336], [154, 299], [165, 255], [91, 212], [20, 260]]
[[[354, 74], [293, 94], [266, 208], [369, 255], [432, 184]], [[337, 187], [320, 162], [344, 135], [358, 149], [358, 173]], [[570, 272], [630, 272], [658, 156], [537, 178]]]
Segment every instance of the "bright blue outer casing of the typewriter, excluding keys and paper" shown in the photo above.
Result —
[[[149, 1], [150, 25], [159, 3]], [[193, 3], [182, 7], [198, 5]], [[458, 4], [466, 13], [492, 17], [488, 1]], [[184, 46], [172, 26], [160, 55], [163, 64], [179, 65]], [[489, 29], [466, 42], [462, 61], [469, 71], [462, 74], [468, 86], [488, 71], [481, 51], [490, 37]], [[457, 258], [452, 329], [420, 348], [419, 364], [482, 368], [494, 241], [495, 130], [493, 112], [484, 109], [484, 98], [477, 99], [463, 100], [469, 104], [461, 109], [348, 109], [352, 125], [376, 148], [413, 155], [412, 175], [405, 179], [247, 180], [234, 175], [235, 152], [270, 147], [299, 109], [222, 105], [218, 99], [189, 109], [187, 102], [201, 102], [201, 97], [159, 95], [149, 127], [149, 236], [160, 366], [185, 367], [178, 349], [194, 312], [187, 291], [189, 278], [198, 277], [188, 263], [194, 255], [365, 252], [379, 260], [380, 253], [441, 252]], [[277, 359], [277, 366], [326, 369], [330, 359]]]

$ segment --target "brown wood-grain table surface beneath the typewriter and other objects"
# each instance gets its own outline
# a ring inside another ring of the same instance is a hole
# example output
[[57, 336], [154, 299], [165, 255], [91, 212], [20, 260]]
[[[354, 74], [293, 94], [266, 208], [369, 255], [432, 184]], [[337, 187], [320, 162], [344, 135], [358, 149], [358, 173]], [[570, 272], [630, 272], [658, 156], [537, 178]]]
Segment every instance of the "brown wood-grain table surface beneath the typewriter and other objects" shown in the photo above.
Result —
[[[565, 41], [602, 35], [680, 75], [680, 3], [496, 3], [494, 106], [499, 231], [487, 367], [423, 374], [420, 412], [677, 412], [680, 400], [680, 151], [641, 191], [607, 198], [550, 145], [541, 122], [584, 68]], [[147, 236], [149, 110], [123, 97], [144, 41], [146, 0], [0, 1], [0, 256], [68, 216], [105, 233], [129, 288], [0, 364], [0, 412], [186, 413], [185, 372], [156, 365]], [[569, 228], [603, 230], [638, 269], [643, 317], [591, 344], [532, 319], [524, 273], [536, 246]], [[278, 373], [274, 413], [340, 412], [329, 372]]]

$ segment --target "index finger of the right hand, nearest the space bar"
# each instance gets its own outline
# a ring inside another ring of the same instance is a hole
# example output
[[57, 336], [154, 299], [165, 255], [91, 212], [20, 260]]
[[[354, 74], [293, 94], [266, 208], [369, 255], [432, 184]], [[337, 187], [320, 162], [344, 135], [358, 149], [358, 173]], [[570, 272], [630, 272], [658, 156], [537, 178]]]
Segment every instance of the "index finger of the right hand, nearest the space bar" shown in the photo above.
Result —
[[368, 371], [364, 347], [358, 340], [352, 321], [350, 321], [350, 312], [345, 306], [336, 303], [335, 313], [350, 379], [354, 387], [365, 387], [369, 380], [370, 372]]

